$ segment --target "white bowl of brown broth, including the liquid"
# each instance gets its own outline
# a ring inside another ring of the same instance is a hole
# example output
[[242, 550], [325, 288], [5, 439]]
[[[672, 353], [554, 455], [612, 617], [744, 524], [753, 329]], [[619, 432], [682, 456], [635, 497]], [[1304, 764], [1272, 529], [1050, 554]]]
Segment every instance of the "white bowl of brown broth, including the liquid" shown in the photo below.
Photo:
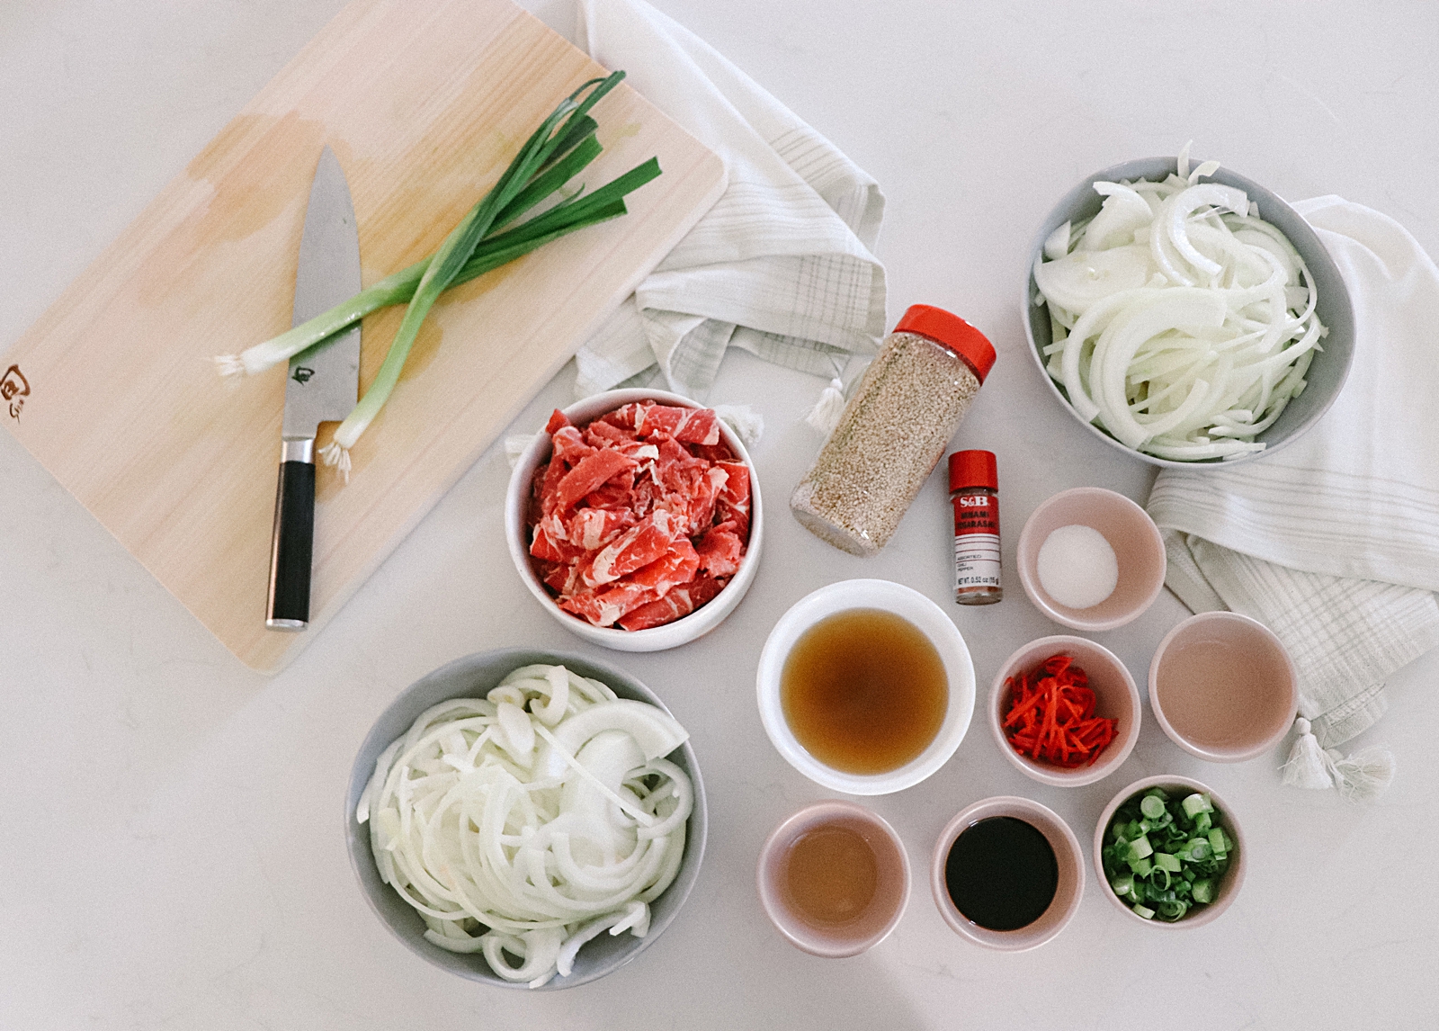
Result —
[[888, 795], [940, 769], [974, 714], [974, 664], [950, 616], [891, 580], [806, 595], [770, 631], [760, 721], [814, 783]]

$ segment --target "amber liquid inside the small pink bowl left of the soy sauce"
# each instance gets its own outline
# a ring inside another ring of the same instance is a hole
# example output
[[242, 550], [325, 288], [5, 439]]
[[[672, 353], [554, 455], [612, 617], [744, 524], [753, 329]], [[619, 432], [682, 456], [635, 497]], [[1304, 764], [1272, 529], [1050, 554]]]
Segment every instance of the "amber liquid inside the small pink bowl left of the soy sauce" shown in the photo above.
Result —
[[842, 824], [816, 827], [790, 845], [784, 893], [806, 923], [842, 927], [865, 914], [879, 886], [875, 850]]

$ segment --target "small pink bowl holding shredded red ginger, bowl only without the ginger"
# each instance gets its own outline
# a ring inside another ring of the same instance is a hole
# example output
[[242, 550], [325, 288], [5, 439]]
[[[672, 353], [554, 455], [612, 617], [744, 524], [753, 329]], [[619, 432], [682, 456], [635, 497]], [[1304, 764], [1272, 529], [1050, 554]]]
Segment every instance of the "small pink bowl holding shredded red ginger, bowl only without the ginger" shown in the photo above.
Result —
[[[1004, 681], [1036, 670], [1050, 655], [1069, 655], [1075, 665], [1089, 675], [1089, 688], [1095, 694], [1095, 716], [1107, 716], [1118, 721], [1114, 740], [1099, 753], [1092, 766], [1066, 769], [1043, 759], [1030, 759], [1019, 755], [1004, 737], [1004, 713], [1010, 700], [1010, 690], [1004, 687]], [[1141, 711], [1140, 688], [1124, 662], [1112, 651], [1094, 641], [1065, 634], [1030, 641], [1004, 659], [1004, 665], [994, 674], [989, 697], [990, 734], [999, 750], [1025, 776], [1056, 788], [1078, 788], [1094, 783], [1117, 770], [1130, 757], [1134, 743], [1140, 740]]]

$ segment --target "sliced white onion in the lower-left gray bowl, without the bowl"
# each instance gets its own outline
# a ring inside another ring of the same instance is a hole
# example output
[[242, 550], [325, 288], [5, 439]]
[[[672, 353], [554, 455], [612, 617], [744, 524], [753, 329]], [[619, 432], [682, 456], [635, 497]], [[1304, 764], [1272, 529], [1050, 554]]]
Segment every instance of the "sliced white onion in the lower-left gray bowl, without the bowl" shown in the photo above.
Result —
[[427, 940], [537, 988], [606, 927], [648, 933], [694, 808], [661, 756], [686, 737], [599, 681], [525, 667], [485, 700], [423, 713], [381, 753], [355, 818]]

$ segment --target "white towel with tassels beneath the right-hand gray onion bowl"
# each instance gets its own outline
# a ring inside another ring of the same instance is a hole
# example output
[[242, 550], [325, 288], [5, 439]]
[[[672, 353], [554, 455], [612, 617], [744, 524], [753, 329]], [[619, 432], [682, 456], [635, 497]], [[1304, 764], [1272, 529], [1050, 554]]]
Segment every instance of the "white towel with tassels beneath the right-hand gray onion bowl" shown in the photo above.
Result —
[[1439, 269], [1379, 212], [1333, 196], [1295, 209], [1350, 289], [1348, 382], [1272, 456], [1161, 471], [1148, 510], [1170, 589], [1268, 625], [1299, 674], [1299, 714], [1333, 747], [1383, 714], [1392, 672], [1439, 645]]

